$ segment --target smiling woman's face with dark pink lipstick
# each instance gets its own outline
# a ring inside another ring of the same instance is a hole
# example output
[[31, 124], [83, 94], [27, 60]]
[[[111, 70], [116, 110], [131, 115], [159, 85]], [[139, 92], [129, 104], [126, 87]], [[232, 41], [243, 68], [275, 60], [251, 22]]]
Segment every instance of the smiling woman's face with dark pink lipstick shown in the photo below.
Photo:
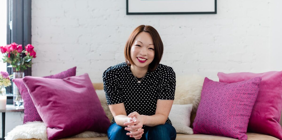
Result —
[[130, 55], [135, 66], [139, 68], [148, 68], [154, 60], [155, 48], [153, 38], [147, 32], [140, 32], [133, 41]]

